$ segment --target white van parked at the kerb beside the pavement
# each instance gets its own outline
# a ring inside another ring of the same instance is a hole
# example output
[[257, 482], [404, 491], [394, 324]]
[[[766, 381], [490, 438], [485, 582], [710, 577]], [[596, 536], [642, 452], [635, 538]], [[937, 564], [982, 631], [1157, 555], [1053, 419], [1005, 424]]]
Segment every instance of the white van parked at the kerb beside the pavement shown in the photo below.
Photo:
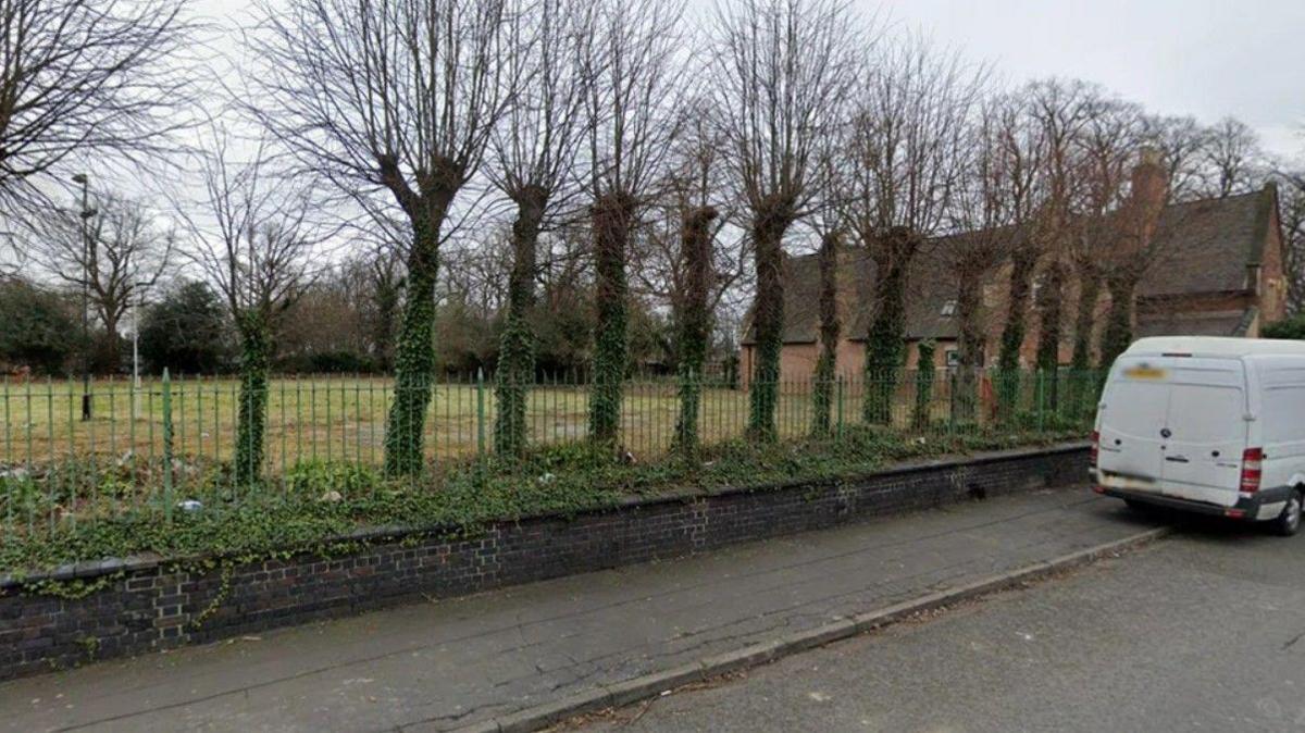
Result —
[[1138, 339], [1092, 432], [1098, 493], [1295, 535], [1305, 492], [1305, 342]]

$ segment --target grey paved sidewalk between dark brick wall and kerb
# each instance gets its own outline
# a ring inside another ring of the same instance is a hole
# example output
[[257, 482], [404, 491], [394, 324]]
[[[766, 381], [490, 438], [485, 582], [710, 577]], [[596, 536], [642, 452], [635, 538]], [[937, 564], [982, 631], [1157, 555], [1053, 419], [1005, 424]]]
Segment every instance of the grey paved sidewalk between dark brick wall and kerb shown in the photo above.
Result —
[[1079, 489], [0, 685], [0, 729], [444, 730], [1148, 528]]

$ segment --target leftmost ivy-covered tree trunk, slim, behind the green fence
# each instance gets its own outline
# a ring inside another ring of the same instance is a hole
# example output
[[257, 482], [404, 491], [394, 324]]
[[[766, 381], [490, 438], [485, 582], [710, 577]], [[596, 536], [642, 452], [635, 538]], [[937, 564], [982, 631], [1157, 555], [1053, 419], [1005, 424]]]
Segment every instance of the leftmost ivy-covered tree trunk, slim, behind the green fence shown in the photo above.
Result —
[[271, 333], [257, 310], [236, 314], [240, 333], [240, 404], [236, 410], [235, 481], [251, 485], [262, 473], [264, 432], [268, 421], [268, 365]]

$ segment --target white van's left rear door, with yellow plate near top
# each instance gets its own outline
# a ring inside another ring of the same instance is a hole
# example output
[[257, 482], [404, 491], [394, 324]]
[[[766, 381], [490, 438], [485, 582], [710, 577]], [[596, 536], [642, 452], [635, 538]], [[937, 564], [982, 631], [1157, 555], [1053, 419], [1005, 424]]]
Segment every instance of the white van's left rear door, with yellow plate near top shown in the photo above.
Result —
[[1168, 359], [1122, 356], [1101, 395], [1098, 479], [1101, 484], [1159, 490], [1169, 411]]

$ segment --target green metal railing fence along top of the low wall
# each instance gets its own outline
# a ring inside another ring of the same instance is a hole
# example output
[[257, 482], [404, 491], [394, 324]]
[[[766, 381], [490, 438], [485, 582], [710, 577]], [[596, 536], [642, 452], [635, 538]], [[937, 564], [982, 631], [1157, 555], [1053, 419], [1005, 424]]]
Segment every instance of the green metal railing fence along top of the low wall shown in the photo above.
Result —
[[[702, 445], [749, 440], [749, 385], [716, 377], [697, 383]], [[780, 441], [813, 438], [821, 424], [813, 398], [823, 389], [830, 419], [818, 440], [837, 441], [863, 423], [910, 436], [1086, 434], [1099, 385], [1095, 372], [1067, 370], [846, 374], [823, 385], [791, 380], [775, 385], [775, 425]], [[676, 449], [680, 387], [669, 377], [624, 383], [621, 455], [646, 462]], [[539, 378], [529, 391], [527, 445], [538, 450], [583, 443], [590, 389], [582, 374]], [[304, 466], [378, 467], [394, 383], [381, 376], [271, 380], [258, 471], [264, 479], [257, 485], [240, 485], [230, 466], [239, 428], [238, 380], [102, 380], [91, 394], [93, 417], [84, 421], [80, 381], [0, 385], [0, 531], [76, 524], [142, 507], [171, 515], [184, 510], [198, 486], [224, 486], [230, 501], [288, 490]], [[493, 441], [485, 436], [495, 434], [495, 413], [489, 374], [435, 385], [423, 441], [429, 471], [493, 459]]]

